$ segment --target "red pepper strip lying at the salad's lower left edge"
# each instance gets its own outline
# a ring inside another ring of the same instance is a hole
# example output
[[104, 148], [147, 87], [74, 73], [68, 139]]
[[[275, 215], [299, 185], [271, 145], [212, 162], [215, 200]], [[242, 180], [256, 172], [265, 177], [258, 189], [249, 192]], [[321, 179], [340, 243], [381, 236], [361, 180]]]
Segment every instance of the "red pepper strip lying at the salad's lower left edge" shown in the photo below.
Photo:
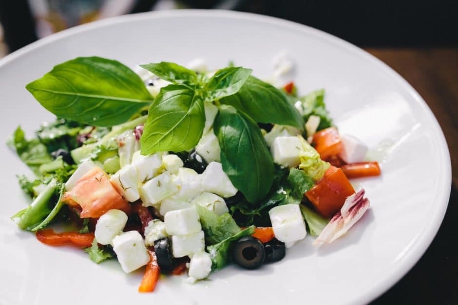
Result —
[[94, 233], [55, 233], [53, 229], [46, 229], [37, 231], [35, 235], [40, 242], [49, 246], [71, 245], [80, 248], [87, 248], [91, 247], [92, 242], [94, 241]]

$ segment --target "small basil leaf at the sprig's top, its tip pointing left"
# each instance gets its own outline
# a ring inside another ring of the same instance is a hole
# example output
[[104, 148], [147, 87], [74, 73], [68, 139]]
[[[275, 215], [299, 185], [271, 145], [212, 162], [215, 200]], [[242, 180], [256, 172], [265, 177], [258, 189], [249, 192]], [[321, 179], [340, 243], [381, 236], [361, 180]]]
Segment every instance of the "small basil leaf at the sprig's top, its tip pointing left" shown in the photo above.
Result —
[[172, 62], [162, 61], [140, 65], [140, 67], [174, 84], [194, 85], [197, 83], [196, 72]]

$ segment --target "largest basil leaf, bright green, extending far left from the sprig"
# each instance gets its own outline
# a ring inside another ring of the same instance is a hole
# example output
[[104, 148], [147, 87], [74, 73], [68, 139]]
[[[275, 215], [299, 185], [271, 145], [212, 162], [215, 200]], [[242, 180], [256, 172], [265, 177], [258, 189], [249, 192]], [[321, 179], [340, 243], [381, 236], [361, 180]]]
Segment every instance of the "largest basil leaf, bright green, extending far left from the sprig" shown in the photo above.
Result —
[[124, 123], [153, 102], [137, 74], [101, 57], [59, 64], [25, 88], [58, 117], [95, 126]]

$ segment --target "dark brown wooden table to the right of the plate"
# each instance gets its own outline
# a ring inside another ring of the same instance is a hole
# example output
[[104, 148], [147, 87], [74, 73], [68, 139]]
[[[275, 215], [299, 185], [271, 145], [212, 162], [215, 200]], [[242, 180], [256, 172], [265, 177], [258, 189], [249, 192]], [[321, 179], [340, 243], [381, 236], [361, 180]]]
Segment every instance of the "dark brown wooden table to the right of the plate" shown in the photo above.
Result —
[[433, 110], [452, 160], [452, 193], [436, 238], [373, 304], [458, 304], [458, 48], [366, 49], [404, 77]]

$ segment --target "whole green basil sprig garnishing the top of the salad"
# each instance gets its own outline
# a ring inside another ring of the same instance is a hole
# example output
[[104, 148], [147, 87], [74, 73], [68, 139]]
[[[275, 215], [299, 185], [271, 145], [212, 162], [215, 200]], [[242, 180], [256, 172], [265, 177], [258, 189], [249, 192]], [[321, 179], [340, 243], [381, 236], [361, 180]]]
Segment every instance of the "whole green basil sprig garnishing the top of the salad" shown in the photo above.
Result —
[[205, 126], [204, 103], [215, 101], [219, 114], [213, 131], [223, 169], [249, 202], [258, 203], [271, 187], [274, 163], [256, 123], [304, 127], [285, 93], [243, 67], [227, 67], [210, 78], [170, 62], [141, 67], [172, 85], [161, 88], [153, 99], [140, 77], [123, 64], [78, 57], [26, 88], [57, 116], [95, 126], [124, 123], [151, 105], [141, 137], [144, 155], [194, 147]]

